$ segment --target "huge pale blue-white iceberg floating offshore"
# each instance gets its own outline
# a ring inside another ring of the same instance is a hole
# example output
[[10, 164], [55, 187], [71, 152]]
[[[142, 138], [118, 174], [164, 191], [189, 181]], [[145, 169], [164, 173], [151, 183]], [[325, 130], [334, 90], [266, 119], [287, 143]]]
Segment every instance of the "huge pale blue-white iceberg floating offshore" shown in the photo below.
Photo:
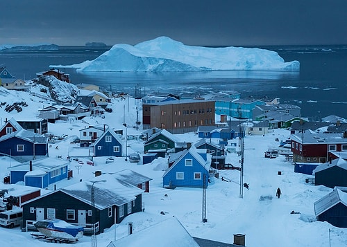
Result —
[[78, 72], [169, 71], [299, 71], [298, 61], [285, 62], [278, 53], [261, 48], [187, 46], [158, 37], [131, 46], [116, 44], [95, 60], [65, 66]]

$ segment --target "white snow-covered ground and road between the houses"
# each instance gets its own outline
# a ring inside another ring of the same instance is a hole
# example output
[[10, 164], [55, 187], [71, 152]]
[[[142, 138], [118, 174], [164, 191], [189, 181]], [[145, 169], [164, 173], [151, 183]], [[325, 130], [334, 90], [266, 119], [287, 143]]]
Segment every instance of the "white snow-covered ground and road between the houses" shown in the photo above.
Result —
[[[8, 94], [6, 94], [8, 95]], [[7, 96], [9, 97], [9, 96]], [[37, 108], [42, 102], [26, 93], [21, 93], [22, 100], [28, 102], [29, 107], [20, 113], [7, 113], [0, 108], [2, 121], [5, 118], [20, 116], [35, 116]], [[12, 98], [1, 96], [0, 101], [15, 101]], [[47, 104], [47, 102], [44, 102]], [[31, 107], [30, 107], [31, 106]], [[58, 121], [49, 124], [49, 132], [56, 136], [67, 134], [67, 138], [49, 147], [50, 156], [66, 157], [69, 149], [74, 144], [71, 141], [79, 136], [79, 130], [88, 125], [107, 124], [115, 129], [124, 129], [122, 123], [127, 123], [128, 135], [139, 134], [142, 130], [136, 130], [136, 107], [139, 102], [133, 98], [129, 101], [112, 99], [112, 113], [105, 113], [105, 118], [84, 118], [83, 120]], [[140, 108], [139, 108], [140, 109]], [[139, 114], [141, 116], [141, 113]], [[124, 129], [125, 130], [125, 129]], [[181, 140], [198, 140], [196, 134], [177, 135]], [[94, 172], [117, 172], [130, 169], [153, 179], [150, 182], [150, 193], [144, 193], [144, 212], [138, 212], [126, 217], [124, 221], [105, 230], [97, 236], [98, 246], [107, 246], [110, 241], [126, 237], [128, 235], [128, 222], [133, 222], [133, 232], [138, 232], [153, 224], [175, 216], [193, 237], [212, 239], [229, 244], [233, 242], [233, 235], [240, 233], [245, 235], [246, 246], [347, 246], [347, 229], [336, 228], [330, 223], [316, 221], [313, 203], [325, 196], [332, 189], [328, 187], [314, 186], [305, 183], [309, 176], [294, 173], [294, 165], [285, 161], [284, 156], [278, 158], [264, 158], [264, 152], [268, 147], [279, 145], [276, 138], [285, 140], [289, 137], [289, 131], [275, 129], [266, 136], [246, 136], [244, 183], [249, 184], [249, 190], [243, 187], [243, 198], [240, 198], [240, 174], [237, 170], [220, 171], [219, 179], [211, 179], [208, 186], [207, 219], [202, 222], [202, 190], [198, 188], [176, 188], [167, 190], [162, 188], [162, 175], [167, 164], [166, 158], [158, 158], [151, 164], [137, 165], [129, 163], [125, 158], [115, 158], [114, 163], [105, 163], [104, 158], [95, 158], [94, 166], [82, 165], [78, 167], [76, 161], [72, 161], [70, 169], [74, 178], [57, 183], [57, 188], [71, 183], [78, 183], [80, 179], [90, 179]], [[58, 149], [56, 149], [58, 147]], [[128, 154], [131, 152], [143, 152], [142, 140], [128, 141]], [[239, 166], [239, 156], [228, 154], [227, 163]], [[0, 157], [0, 177], [8, 174], [7, 167], [13, 164], [9, 158]], [[280, 172], [280, 175], [279, 175]], [[230, 181], [222, 181], [221, 177]], [[2, 179], [1, 179], [2, 180]], [[2, 187], [0, 183], [0, 189]], [[276, 190], [280, 187], [282, 196], [276, 197]], [[53, 188], [49, 188], [53, 189]], [[167, 194], [167, 196], [164, 196]], [[298, 214], [291, 214], [291, 211]], [[164, 212], [160, 214], [160, 212]], [[20, 228], [0, 227], [0, 246], [47, 246], [49, 242], [34, 239], [31, 232], [22, 232]], [[160, 240], [160, 235], [153, 238]], [[331, 241], [331, 242], [330, 242]], [[157, 241], [158, 242], [158, 241]], [[90, 246], [91, 237], [84, 236], [74, 246]], [[117, 245], [117, 243], [116, 243]], [[60, 244], [65, 246], [65, 244]], [[131, 244], [129, 243], [129, 246]], [[144, 246], [153, 246], [144, 243]]]

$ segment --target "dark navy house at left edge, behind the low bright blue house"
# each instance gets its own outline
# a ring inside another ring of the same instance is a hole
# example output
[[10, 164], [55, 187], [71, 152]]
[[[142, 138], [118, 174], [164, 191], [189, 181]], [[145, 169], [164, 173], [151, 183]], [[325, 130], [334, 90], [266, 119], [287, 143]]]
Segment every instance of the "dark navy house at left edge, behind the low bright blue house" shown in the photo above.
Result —
[[48, 138], [19, 129], [0, 137], [0, 153], [20, 162], [44, 158], [48, 156]]

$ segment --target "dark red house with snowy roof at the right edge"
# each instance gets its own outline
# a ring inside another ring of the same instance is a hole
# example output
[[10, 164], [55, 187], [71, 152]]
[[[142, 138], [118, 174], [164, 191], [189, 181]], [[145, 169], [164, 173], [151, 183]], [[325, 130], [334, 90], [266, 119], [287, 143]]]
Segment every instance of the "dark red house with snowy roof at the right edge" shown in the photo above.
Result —
[[330, 152], [347, 151], [347, 132], [344, 134], [316, 133], [306, 130], [291, 135], [291, 152], [294, 162], [325, 163]]

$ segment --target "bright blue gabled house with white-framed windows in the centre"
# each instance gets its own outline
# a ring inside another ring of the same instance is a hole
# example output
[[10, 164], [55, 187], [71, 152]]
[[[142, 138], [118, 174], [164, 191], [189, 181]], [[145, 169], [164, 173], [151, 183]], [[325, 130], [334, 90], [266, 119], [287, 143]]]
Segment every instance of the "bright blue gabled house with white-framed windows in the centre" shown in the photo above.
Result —
[[162, 176], [162, 185], [163, 187], [203, 187], [204, 185], [208, 187], [209, 170], [210, 163], [206, 162], [192, 146], [180, 152], [178, 159]]

